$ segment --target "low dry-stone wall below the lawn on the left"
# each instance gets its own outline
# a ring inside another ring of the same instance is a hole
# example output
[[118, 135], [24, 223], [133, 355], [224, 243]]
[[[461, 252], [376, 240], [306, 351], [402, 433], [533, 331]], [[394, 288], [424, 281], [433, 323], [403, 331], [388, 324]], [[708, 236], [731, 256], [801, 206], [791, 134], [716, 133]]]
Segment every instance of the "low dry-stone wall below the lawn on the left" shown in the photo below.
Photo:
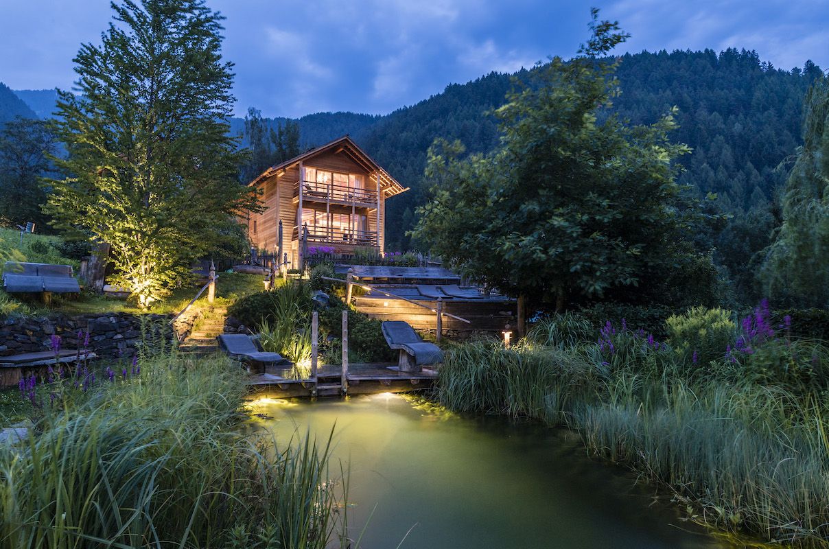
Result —
[[24, 352], [50, 350], [51, 336], [61, 336], [61, 347], [75, 349], [83, 345], [78, 341], [90, 334], [89, 348], [102, 358], [132, 357], [142, 340], [142, 322], [145, 330], [155, 326], [155, 336], [160, 333], [168, 340], [181, 339], [189, 333], [197, 313], [178, 318], [175, 327], [170, 325], [172, 315], [102, 313], [65, 316], [51, 314], [46, 317], [7, 318], [0, 322], [0, 362], [2, 357]]

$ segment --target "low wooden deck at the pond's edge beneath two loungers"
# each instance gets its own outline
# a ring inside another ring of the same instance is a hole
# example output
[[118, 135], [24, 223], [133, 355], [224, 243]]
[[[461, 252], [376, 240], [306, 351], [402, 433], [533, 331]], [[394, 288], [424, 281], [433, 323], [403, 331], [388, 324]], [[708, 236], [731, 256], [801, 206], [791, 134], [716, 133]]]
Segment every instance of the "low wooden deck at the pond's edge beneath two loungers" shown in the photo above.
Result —
[[292, 371], [268, 367], [263, 374], [251, 374], [248, 386], [258, 394], [277, 397], [344, 396], [386, 392], [423, 391], [434, 387], [438, 372], [397, 372], [393, 363], [349, 364], [345, 383], [342, 367], [322, 365], [317, 378], [289, 379]]

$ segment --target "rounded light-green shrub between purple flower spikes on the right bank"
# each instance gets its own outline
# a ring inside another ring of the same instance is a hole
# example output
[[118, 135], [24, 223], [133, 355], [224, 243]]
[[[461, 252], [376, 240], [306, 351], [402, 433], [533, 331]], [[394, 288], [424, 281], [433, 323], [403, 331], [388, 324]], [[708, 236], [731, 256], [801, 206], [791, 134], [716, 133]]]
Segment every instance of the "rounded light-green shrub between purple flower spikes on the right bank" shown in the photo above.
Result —
[[692, 307], [667, 318], [668, 341], [676, 352], [707, 365], [723, 357], [726, 347], [734, 343], [737, 326], [732, 317], [733, 313], [725, 309]]

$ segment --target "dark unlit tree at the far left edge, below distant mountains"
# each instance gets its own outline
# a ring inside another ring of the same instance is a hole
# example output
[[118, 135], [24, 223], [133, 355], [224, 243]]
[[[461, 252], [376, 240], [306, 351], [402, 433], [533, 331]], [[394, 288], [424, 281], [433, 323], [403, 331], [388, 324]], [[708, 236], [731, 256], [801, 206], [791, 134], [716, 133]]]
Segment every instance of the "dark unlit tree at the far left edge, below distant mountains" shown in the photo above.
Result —
[[44, 226], [46, 190], [40, 177], [51, 169], [55, 138], [46, 122], [17, 117], [0, 130], [0, 220], [9, 225], [33, 221]]

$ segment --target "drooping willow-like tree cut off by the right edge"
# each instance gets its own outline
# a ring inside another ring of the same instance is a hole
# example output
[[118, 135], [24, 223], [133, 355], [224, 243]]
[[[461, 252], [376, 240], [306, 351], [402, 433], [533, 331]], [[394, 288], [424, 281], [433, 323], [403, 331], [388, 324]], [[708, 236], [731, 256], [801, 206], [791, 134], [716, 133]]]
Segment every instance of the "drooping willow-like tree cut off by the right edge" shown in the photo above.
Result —
[[783, 195], [783, 225], [768, 247], [769, 294], [829, 307], [829, 78], [815, 80], [804, 108], [803, 146]]

